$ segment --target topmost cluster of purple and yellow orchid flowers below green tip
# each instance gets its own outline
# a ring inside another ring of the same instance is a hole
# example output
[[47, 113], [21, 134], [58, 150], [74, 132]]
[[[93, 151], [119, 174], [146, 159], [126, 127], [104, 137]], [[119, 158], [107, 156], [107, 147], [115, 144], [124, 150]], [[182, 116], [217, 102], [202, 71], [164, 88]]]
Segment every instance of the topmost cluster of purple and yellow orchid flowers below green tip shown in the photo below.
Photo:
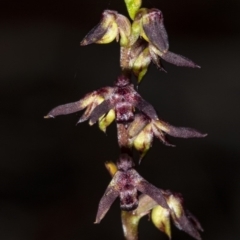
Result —
[[151, 62], [160, 70], [164, 70], [160, 59], [181, 67], [200, 68], [190, 59], [168, 50], [168, 35], [160, 10], [138, 9], [139, 1], [127, 2], [131, 5], [130, 9], [135, 9], [132, 13], [132, 23], [116, 11], [105, 10], [101, 22], [85, 36], [81, 45], [106, 44], [120, 39], [120, 65], [123, 70], [133, 71], [138, 83], [146, 74]]

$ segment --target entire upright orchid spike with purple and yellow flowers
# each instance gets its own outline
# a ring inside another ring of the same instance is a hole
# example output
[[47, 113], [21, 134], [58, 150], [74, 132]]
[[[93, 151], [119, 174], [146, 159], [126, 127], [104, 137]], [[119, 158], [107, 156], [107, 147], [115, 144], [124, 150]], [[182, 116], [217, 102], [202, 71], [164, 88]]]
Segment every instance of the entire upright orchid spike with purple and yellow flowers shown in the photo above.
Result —
[[[154, 137], [166, 146], [167, 135], [179, 138], [202, 138], [195, 129], [175, 127], [161, 120], [155, 108], [136, 90], [151, 63], [166, 70], [162, 60], [177, 66], [200, 68], [192, 60], [169, 51], [168, 34], [160, 10], [141, 8], [141, 0], [125, 0], [130, 20], [117, 11], [105, 10], [102, 19], [81, 41], [81, 46], [108, 44], [116, 40], [120, 45], [122, 70], [113, 86], [106, 86], [86, 94], [80, 100], [53, 108], [45, 118], [54, 118], [84, 110], [77, 123], [98, 123], [101, 131], [115, 122], [120, 155], [116, 164], [105, 164], [112, 180], [103, 194], [95, 223], [100, 223], [116, 198], [120, 199], [122, 226], [127, 240], [138, 239], [138, 224], [150, 215], [153, 224], [171, 239], [171, 221], [180, 230], [200, 240], [203, 231], [198, 220], [183, 206], [180, 194], [162, 190], [145, 180], [134, 168], [133, 149], [140, 153], [140, 161], [152, 146]], [[171, 221], [170, 221], [171, 220]]]

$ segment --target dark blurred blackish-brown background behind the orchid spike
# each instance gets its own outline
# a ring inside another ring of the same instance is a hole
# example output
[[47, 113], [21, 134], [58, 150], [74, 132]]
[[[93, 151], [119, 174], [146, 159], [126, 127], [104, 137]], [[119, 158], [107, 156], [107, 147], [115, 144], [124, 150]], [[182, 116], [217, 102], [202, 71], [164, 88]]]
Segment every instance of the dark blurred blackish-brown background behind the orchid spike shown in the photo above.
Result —
[[[143, 0], [162, 10], [170, 50], [201, 65], [168, 73], [151, 66], [140, 86], [159, 116], [207, 132], [204, 139], [155, 140], [138, 167], [163, 189], [181, 192], [201, 221], [204, 240], [239, 240], [240, 2]], [[1, 1], [0, 239], [123, 239], [119, 202], [94, 225], [119, 154], [116, 129], [76, 126], [81, 113], [45, 120], [53, 107], [112, 85], [118, 44], [80, 47], [105, 9], [126, 14], [123, 0]], [[140, 239], [167, 239], [148, 221]], [[191, 239], [173, 227], [173, 239]]]

